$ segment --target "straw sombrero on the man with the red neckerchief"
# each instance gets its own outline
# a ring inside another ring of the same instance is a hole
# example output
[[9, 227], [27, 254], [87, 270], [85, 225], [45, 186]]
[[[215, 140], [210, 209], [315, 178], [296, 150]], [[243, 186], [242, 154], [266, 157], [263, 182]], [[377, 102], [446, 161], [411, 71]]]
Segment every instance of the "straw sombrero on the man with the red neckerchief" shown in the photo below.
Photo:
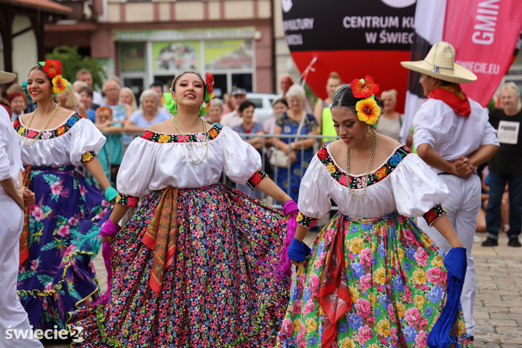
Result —
[[464, 66], [455, 64], [455, 49], [445, 41], [435, 43], [423, 61], [400, 64], [407, 69], [458, 84], [467, 84], [477, 79], [477, 75]]

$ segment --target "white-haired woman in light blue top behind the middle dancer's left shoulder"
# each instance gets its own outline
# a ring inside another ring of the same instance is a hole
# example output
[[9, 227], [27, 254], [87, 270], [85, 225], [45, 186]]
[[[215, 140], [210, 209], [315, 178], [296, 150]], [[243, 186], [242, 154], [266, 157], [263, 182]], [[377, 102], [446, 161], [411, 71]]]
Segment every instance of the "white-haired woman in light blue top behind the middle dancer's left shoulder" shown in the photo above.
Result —
[[143, 132], [152, 124], [163, 122], [170, 117], [158, 111], [159, 99], [156, 91], [146, 89], [139, 96], [139, 110], [124, 124], [125, 132]]

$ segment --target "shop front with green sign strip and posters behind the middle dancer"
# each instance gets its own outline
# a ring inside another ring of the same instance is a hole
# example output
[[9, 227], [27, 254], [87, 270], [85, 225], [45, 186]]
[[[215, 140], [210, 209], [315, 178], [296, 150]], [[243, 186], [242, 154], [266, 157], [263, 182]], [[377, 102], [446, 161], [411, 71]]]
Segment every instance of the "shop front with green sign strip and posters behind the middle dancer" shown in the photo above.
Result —
[[161, 81], [164, 91], [168, 91], [169, 82], [184, 71], [212, 73], [214, 94], [218, 98], [235, 87], [253, 91], [254, 30], [246, 27], [117, 31], [120, 73], [124, 79], [143, 77], [140, 91], [153, 81]]

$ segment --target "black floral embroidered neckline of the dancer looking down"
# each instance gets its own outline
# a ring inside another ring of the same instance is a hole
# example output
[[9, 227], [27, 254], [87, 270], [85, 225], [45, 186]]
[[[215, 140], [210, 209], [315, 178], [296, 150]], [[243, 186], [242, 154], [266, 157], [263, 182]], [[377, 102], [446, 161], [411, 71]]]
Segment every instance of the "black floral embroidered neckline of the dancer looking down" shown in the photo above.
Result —
[[[353, 176], [341, 170], [336, 165], [334, 159], [330, 156], [330, 153], [326, 148], [328, 145], [329, 144], [323, 145], [323, 147], [317, 152], [317, 158], [319, 158], [321, 163], [323, 163], [327, 167], [331, 177], [343, 186], [347, 187], [348, 185], [350, 185], [350, 188], [353, 190], [361, 189], [362, 178], [365, 176], [365, 174]], [[408, 148], [408, 146], [403, 145], [397, 147], [395, 151], [392, 153], [392, 155], [388, 157], [388, 159], [381, 167], [370, 173], [367, 185], [370, 186], [386, 178], [389, 175], [389, 173], [391, 173], [395, 168], [397, 168], [400, 161], [404, 159], [408, 154], [411, 154], [411, 150]]]

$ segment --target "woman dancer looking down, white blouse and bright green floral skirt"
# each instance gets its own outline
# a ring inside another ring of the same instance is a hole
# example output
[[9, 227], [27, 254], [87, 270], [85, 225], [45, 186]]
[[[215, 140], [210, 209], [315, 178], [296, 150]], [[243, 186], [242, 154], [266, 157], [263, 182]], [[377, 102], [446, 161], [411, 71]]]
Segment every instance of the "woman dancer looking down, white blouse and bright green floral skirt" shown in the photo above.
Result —
[[[424, 214], [461, 247], [441, 207], [449, 192], [417, 155], [371, 126], [380, 114], [376, 86], [366, 76], [336, 92], [331, 113], [340, 140], [319, 150], [301, 181], [289, 248], [299, 272], [281, 346], [426, 346], [443, 308], [443, 254], [409, 216]], [[339, 212], [311, 250], [302, 240], [330, 200]], [[456, 345], [467, 345], [461, 314], [449, 322]]]

